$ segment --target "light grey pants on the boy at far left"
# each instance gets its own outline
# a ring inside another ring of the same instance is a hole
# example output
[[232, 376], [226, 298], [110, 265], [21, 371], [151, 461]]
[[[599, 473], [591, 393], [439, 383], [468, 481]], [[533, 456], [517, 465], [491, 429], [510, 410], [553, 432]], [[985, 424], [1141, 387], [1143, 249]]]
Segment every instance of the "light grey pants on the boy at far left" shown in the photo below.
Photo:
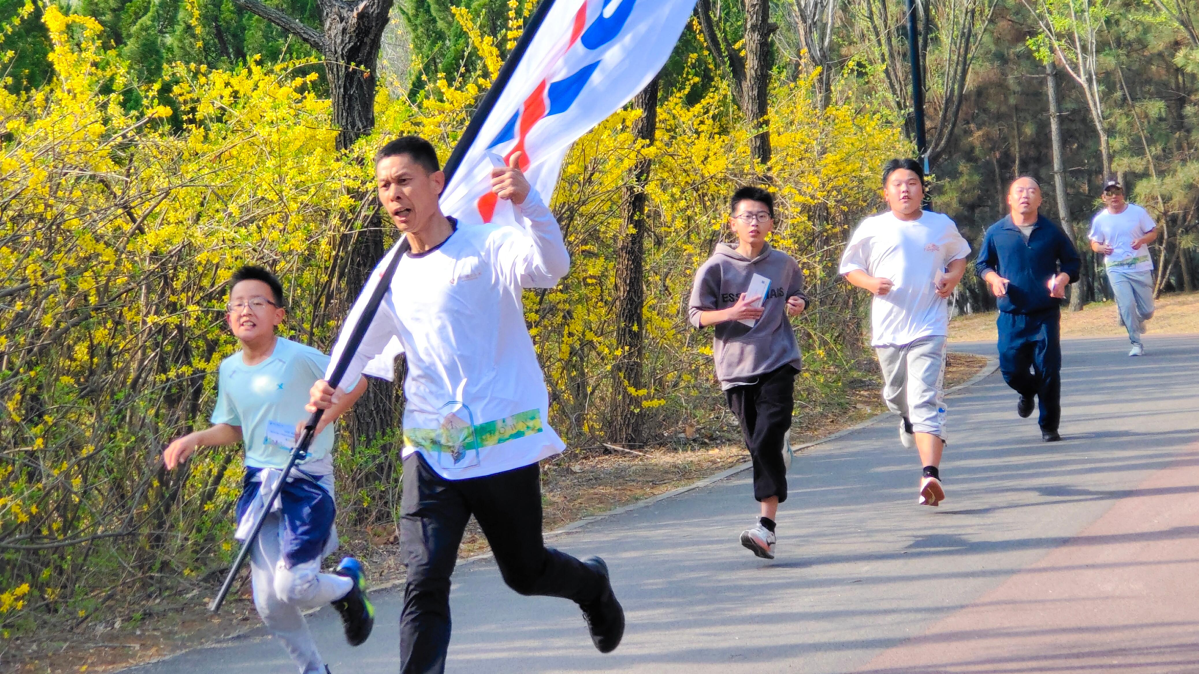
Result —
[[320, 559], [288, 569], [282, 547], [279, 514], [271, 512], [249, 555], [254, 607], [266, 629], [283, 640], [283, 648], [301, 674], [325, 674], [325, 662], [312, 640], [302, 611], [342, 599], [354, 587], [354, 581], [321, 573]]

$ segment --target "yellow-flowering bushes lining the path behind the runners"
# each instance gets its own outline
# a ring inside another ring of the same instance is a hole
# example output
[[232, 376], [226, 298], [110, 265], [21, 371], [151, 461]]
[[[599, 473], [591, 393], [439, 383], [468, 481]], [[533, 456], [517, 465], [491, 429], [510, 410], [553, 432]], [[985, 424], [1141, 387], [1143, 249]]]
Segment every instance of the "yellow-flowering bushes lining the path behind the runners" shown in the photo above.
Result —
[[[469, 14], [457, 18], [494, 77], [495, 45]], [[243, 262], [271, 266], [291, 308], [284, 334], [327, 348], [353, 299], [353, 235], [374, 208], [367, 158], [403, 133], [445, 157], [490, 83], [442, 75], [418, 104], [380, 91], [376, 134], [338, 153], [330, 103], [311, 89], [315, 63], [175, 63], [138, 89], [92, 19], [50, 5], [44, 22], [56, 77], [28, 95], [0, 92], [0, 636], [46, 619], [82, 625], [147, 591], [218, 579], [234, 552], [240, 451], [200, 453], [180, 474], [163, 470], [161, 451], [206, 423], [217, 364], [235, 348], [227, 279]], [[711, 62], [692, 55], [688, 68], [694, 83]], [[528, 293], [526, 311], [553, 423], [574, 447], [603, 438], [613, 399], [620, 188], [641, 156], [653, 164], [645, 381], [633, 393], [658, 431], [719, 411], [709, 335], [687, 328], [683, 305], [694, 269], [727, 236], [728, 194], [754, 172], [728, 91], [688, 104], [686, 81], [662, 101], [652, 145], [633, 141], [637, 113], [623, 111], [562, 170], [553, 206], [574, 267], [559, 287]], [[836, 257], [872, 206], [880, 164], [904, 146], [869, 107], [820, 111], [808, 89], [773, 91], [770, 176], [776, 244], [814, 290], [796, 323], [811, 403], [835, 396], [861, 356], [861, 300], [833, 283]]]

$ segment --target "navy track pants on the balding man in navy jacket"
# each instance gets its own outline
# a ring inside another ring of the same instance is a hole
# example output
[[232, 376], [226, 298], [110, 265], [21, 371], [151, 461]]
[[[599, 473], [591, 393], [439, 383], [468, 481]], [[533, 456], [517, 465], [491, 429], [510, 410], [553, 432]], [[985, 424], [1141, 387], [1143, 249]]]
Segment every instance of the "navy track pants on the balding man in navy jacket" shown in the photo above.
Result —
[[1004, 381], [1023, 396], [1036, 395], [1041, 430], [1056, 431], [1061, 423], [1061, 312], [1000, 311], [995, 326]]

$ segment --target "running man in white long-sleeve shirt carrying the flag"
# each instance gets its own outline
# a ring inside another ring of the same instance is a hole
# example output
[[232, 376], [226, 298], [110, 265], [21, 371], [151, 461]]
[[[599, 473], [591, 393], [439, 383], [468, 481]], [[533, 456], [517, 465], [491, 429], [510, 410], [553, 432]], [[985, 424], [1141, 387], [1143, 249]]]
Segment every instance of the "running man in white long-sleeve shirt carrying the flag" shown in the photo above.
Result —
[[[625, 614], [598, 557], [578, 560], [542, 542], [537, 462], [565, 447], [544, 423], [549, 396], [524, 324], [522, 287], [553, 287], [570, 256], [553, 213], [517, 168], [492, 171], [494, 194], [529, 221], [459, 226], [441, 213], [445, 175], [433, 146], [404, 136], [375, 156], [379, 201], [410, 253], [354, 354], [348, 378], [393, 336], [408, 356], [404, 490], [399, 546], [408, 567], [400, 670], [441, 672], [450, 645], [450, 576], [470, 516], [505, 582], [524, 595], [573, 600], [603, 652], [616, 648]], [[333, 350], [339, 357], [341, 341]], [[348, 387], [353, 390], [356, 382]], [[317, 382], [309, 411], [343, 393]]]

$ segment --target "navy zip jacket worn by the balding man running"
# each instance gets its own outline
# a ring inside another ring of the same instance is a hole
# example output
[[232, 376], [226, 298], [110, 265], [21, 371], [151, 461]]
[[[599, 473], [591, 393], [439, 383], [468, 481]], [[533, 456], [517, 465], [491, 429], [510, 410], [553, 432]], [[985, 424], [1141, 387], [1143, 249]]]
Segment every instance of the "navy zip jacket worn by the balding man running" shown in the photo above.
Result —
[[995, 272], [1007, 279], [1007, 296], [996, 298], [1000, 311], [1008, 314], [1036, 314], [1058, 309], [1061, 304], [1049, 296], [1049, 279], [1055, 274], [1070, 275], [1070, 283], [1078, 280], [1080, 260], [1074, 243], [1061, 227], [1038, 215], [1032, 225], [1029, 241], [1006, 215], [987, 230], [975, 268], [980, 278]]

